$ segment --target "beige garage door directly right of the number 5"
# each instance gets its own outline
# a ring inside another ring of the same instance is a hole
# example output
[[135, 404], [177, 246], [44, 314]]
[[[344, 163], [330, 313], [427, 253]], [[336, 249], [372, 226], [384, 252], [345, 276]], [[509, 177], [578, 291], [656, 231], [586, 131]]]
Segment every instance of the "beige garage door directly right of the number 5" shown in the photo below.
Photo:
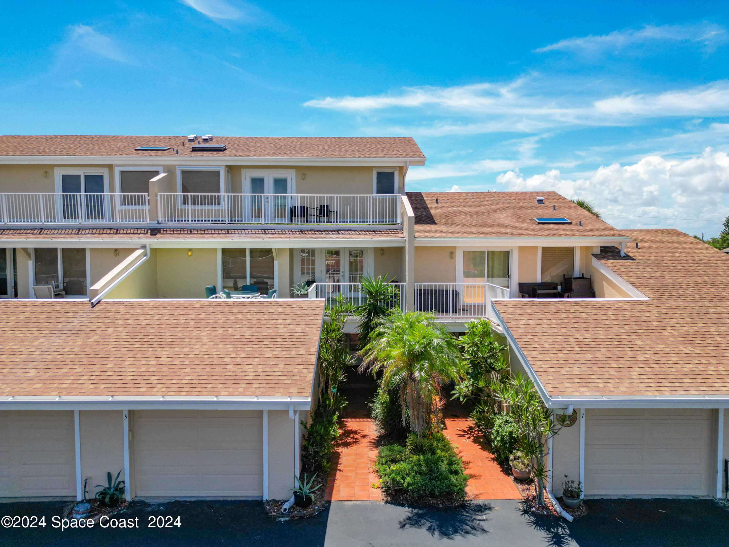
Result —
[[263, 494], [261, 411], [134, 411], [137, 496]]

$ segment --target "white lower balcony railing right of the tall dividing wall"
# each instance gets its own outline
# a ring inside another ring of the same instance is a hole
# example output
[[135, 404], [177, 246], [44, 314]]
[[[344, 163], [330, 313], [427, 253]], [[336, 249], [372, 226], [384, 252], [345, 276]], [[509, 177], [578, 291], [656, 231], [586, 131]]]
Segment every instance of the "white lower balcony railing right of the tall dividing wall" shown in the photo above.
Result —
[[509, 298], [509, 290], [491, 283], [416, 283], [415, 309], [437, 317], [496, 319], [493, 298]]

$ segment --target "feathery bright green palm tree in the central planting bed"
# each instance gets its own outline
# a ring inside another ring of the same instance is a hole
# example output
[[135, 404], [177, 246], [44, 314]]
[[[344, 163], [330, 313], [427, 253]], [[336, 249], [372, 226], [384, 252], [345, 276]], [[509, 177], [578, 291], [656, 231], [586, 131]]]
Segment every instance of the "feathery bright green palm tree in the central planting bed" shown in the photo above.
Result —
[[380, 386], [399, 392], [402, 424], [418, 441], [432, 426], [440, 384], [461, 379], [467, 368], [451, 333], [422, 311], [395, 310], [381, 319], [361, 354], [362, 369], [381, 372]]

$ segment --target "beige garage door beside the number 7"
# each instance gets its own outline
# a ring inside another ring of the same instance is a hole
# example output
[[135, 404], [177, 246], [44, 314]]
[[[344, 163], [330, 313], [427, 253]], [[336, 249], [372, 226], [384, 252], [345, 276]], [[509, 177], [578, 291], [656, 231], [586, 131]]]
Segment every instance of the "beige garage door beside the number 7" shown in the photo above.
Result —
[[585, 494], [709, 495], [712, 411], [588, 410]]

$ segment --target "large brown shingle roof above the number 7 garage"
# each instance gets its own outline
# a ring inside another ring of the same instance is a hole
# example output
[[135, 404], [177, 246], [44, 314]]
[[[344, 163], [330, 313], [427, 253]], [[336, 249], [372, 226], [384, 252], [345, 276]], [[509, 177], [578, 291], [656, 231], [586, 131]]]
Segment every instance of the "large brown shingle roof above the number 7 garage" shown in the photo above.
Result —
[[622, 230], [598, 260], [650, 300], [504, 300], [550, 397], [729, 395], [729, 257], [678, 230]]

